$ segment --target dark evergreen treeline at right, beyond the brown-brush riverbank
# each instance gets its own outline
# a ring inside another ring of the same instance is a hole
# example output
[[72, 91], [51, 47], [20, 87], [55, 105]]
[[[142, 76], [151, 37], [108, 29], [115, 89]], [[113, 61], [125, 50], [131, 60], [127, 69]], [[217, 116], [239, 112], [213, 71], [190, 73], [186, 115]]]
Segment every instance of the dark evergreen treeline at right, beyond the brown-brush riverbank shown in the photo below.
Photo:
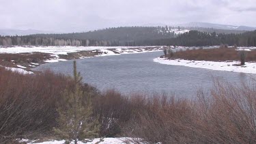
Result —
[[144, 41], [148, 45], [175, 45], [175, 46], [216, 46], [220, 44], [238, 46], [256, 46], [256, 31], [248, 31], [239, 34], [205, 33], [201, 31], [189, 31], [177, 38]]

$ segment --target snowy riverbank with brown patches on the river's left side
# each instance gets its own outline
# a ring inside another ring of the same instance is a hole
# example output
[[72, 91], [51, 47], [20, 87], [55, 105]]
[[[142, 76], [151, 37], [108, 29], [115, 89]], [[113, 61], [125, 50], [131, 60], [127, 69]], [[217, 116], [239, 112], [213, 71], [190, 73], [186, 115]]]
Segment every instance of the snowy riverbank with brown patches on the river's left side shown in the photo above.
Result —
[[108, 55], [162, 51], [162, 46], [12, 46], [0, 48], [0, 66], [31, 74], [44, 63]]

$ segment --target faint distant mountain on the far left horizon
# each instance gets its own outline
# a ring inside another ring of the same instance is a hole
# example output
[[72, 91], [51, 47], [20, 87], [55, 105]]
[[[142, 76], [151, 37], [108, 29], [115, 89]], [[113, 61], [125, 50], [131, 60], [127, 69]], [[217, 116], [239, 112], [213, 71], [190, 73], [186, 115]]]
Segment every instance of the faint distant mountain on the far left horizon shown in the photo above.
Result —
[[0, 35], [31, 35], [37, 33], [53, 33], [53, 31], [40, 31], [36, 29], [0, 29]]

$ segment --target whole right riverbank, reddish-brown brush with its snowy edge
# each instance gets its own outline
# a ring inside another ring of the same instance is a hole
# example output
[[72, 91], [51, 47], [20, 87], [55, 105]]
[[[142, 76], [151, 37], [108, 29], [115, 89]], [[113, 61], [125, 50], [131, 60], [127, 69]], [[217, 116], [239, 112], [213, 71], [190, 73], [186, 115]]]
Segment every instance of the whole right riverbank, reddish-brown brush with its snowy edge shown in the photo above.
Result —
[[[243, 66], [240, 65], [239, 51], [246, 51], [248, 62]], [[156, 58], [154, 61], [173, 66], [256, 74], [255, 55], [255, 48], [193, 49], [178, 51], [171, 56]]]

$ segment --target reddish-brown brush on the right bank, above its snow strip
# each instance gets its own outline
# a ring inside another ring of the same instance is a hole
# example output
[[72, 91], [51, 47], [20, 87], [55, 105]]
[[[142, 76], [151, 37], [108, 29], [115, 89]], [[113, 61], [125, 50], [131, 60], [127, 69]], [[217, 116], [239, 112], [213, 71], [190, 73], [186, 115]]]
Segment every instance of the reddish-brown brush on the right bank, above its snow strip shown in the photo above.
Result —
[[[170, 59], [196, 61], [240, 61], [239, 51], [235, 48], [210, 48], [178, 51]], [[246, 61], [256, 61], [256, 51], [246, 52]]]

